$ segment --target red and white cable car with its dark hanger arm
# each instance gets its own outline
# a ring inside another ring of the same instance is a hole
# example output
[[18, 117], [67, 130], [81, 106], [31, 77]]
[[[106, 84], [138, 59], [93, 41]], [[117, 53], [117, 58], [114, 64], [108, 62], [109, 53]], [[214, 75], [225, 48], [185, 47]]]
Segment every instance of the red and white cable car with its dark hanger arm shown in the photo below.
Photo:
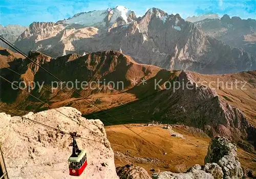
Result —
[[87, 167], [87, 152], [79, 149], [75, 138], [79, 137], [76, 132], [71, 133], [73, 138], [72, 155], [69, 158], [69, 174], [73, 176], [80, 176], [83, 170]]

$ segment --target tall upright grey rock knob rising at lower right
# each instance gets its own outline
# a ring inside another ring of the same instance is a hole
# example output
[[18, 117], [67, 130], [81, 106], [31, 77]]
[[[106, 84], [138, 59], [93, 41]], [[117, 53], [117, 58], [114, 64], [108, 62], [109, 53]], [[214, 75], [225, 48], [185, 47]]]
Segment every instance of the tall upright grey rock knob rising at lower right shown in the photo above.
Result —
[[223, 137], [216, 137], [210, 142], [204, 163], [217, 163], [222, 168], [225, 179], [242, 178], [243, 176], [236, 145]]

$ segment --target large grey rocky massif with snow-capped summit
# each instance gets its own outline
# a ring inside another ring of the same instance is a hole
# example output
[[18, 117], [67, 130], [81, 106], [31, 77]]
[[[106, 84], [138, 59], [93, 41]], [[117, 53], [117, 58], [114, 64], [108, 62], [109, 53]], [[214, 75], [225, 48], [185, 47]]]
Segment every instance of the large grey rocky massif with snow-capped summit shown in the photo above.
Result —
[[[98, 12], [92, 13], [97, 16]], [[139, 19], [125, 8], [103, 14], [106, 20], [102, 24], [101, 15], [97, 16], [97, 25], [88, 21], [91, 17], [84, 20], [87, 13], [56, 24], [33, 23], [15, 45], [27, 53], [38, 50], [53, 57], [116, 50], [137, 62], [207, 74], [256, 69], [254, 56], [207, 37], [200, 26], [185, 21], [179, 14], [168, 15], [156, 8]]]

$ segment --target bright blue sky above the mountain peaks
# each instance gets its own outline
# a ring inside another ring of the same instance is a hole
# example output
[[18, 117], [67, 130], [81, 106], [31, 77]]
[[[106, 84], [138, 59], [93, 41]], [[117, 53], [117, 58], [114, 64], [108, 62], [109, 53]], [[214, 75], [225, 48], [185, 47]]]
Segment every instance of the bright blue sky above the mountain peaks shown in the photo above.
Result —
[[256, 18], [256, 0], [170, 0], [170, 1], [102, 1], [102, 0], [0, 0], [0, 24], [30, 25], [33, 21], [58, 21], [79, 12], [102, 10], [117, 5], [125, 6], [142, 16], [152, 8], [168, 14], [179, 13], [182, 18], [193, 15], [217, 13], [220, 16]]

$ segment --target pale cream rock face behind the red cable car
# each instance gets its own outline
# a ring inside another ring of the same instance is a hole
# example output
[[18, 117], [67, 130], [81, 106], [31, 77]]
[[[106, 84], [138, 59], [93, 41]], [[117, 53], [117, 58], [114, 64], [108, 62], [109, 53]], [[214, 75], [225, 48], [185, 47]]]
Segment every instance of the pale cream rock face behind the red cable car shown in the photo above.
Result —
[[[83, 126], [79, 126], [69, 116]], [[24, 117], [54, 128], [73, 132], [87, 139], [77, 139], [78, 147], [87, 150], [88, 166], [80, 178], [118, 178], [114, 153], [106, 139], [100, 120], [88, 120], [72, 107], [29, 113]], [[69, 135], [28, 122], [20, 117], [0, 113], [0, 142], [9, 177], [18, 178], [70, 178], [68, 158], [72, 153]], [[93, 131], [93, 132], [92, 132]]]

